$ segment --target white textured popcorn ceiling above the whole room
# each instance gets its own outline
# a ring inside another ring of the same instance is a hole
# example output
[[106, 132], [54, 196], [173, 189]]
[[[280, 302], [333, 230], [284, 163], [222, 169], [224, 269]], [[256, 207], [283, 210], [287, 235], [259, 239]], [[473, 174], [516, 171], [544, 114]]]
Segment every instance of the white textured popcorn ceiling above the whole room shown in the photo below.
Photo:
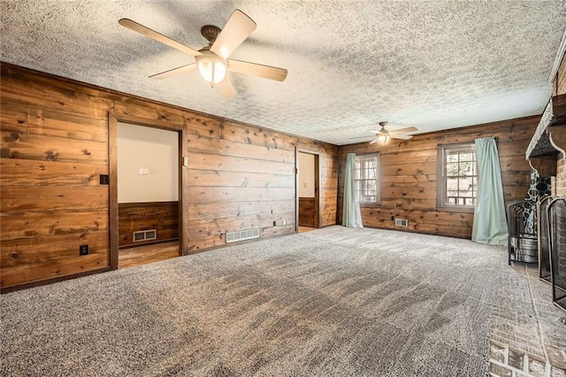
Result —
[[[200, 28], [236, 8], [257, 28], [232, 58], [289, 73], [229, 73], [233, 98], [196, 72], [149, 79], [194, 58], [118, 24], [200, 49]], [[540, 114], [566, 28], [566, 0], [0, 0], [0, 12], [3, 61], [334, 144], [371, 140], [379, 120], [420, 133]]]

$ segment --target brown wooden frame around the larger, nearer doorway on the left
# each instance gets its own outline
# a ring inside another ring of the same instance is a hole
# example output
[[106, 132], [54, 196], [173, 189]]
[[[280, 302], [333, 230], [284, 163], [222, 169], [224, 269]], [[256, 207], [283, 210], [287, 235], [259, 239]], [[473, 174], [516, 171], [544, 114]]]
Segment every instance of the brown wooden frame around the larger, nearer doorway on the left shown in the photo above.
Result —
[[183, 151], [187, 150], [185, 128], [179, 125], [164, 125], [162, 120], [153, 122], [151, 119], [139, 119], [121, 113], [118, 116], [108, 112], [108, 164], [109, 164], [109, 234], [110, 234], [110, 267], [118, 269], [119, 260], [119, 205], [118, 205], [118, 123], [128, 123], [134, 126], [159, 128], [177, 132], [179, 135], [179, 255], [184, 255], [188, 245], [188, 218], [183, 215], [187, 208], [187, 196], [182, 188], [187, 182], [187, 169], [183, 169]]

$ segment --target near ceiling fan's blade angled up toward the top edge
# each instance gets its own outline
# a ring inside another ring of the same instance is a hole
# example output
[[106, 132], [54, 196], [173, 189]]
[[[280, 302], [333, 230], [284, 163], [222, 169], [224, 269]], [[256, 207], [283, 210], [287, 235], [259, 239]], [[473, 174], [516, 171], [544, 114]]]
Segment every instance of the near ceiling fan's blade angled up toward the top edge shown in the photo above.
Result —
[[233, 50], [236, 50], [254, 30], [256, 30], [256, 23], [244, 12], [236, 9], [216, 41], [212, 43], [210, 51], [227, 59], [233, 53]]

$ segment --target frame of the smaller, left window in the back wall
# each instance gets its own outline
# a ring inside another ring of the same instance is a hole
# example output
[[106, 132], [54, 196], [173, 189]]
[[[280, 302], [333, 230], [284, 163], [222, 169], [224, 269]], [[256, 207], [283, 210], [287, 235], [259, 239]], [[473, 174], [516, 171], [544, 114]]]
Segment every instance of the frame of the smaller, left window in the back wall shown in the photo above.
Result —
[[[371, 164], [374, 163], [374, 173], [371, 173]], [[381, 202], [380, 193], [380, 174], [379, 174], [379, 153], [356, 155], [356, 165], [354, 167], [354, 188], [356, 189], [356, 200], [360, 205], [371, 206], [379, 205]], [[370, 178], [371, 175], [374, 178]], [[368, 188], [371, 187], [371, 181], [374, 181], [375, 193], [370, 195]], [[366, 195], [363, 195], [365, 191]], [[369, 196], [373, 196], [374, 200], [367, 200]]]

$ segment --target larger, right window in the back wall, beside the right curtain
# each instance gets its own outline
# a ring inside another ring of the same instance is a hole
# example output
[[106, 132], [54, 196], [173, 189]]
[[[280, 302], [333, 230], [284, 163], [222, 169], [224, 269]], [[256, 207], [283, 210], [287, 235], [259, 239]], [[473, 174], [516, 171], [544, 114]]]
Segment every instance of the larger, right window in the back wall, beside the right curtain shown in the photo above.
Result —
[[440, 207], [473, 210], [478, 193], [474, 143], [442, 145], [440, 157]]

